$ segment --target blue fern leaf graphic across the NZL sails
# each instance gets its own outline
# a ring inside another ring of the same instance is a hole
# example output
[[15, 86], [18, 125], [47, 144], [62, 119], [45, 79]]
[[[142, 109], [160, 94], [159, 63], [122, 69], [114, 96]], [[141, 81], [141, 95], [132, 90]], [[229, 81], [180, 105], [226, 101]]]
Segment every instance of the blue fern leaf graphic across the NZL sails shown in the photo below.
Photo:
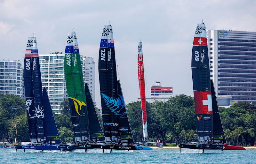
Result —
[[101, 93], [103, 100], [105, 101], [107, 107], [111, 112], [114, 112], [114, 115], [119, 115], [120, 118], [126, 118], [126, 110], [125, 112], [121, 113], [122, 109], [125, 108], [124, 98], [120, 94], [118, 98], [109, 97], [104, 93]]

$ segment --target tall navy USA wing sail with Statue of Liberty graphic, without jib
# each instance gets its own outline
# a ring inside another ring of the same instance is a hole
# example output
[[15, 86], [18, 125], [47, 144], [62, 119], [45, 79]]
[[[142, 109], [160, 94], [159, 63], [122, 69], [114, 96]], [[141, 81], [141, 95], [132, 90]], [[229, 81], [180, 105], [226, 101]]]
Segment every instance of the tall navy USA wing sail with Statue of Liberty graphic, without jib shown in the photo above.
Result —
[[42, 81], [39, 66], [36, 37], [29, 37], [26, 45], [24, 60], [24, 88], [30, 142], [43, 142], [44, 140], [44, 108], [42, 95]]

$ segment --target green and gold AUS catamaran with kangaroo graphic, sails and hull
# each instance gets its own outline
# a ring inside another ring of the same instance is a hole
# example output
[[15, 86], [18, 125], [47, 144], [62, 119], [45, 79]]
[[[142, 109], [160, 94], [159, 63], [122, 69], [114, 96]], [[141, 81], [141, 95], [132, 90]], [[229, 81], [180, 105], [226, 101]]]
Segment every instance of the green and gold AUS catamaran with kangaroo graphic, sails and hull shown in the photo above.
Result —
[[95, 111], [88, 85], [84, 87], [81, 59], [76, 33], [68, 34], [65, 50], [65, 80], [75, 144], [61, 144], [59, 147], [71, 149], [101, 148], [105, 141], [100, 122]]

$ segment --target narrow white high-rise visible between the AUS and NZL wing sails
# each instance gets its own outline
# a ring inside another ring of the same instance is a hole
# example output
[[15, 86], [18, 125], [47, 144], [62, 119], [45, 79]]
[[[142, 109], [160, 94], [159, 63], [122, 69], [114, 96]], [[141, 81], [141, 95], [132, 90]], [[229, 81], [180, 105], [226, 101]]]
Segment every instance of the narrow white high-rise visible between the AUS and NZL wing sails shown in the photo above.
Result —
[[95, 63], [92, 57], [83, 58], [83, 76], [84, 82], [89, 86], [92, 101], [95, 102]]

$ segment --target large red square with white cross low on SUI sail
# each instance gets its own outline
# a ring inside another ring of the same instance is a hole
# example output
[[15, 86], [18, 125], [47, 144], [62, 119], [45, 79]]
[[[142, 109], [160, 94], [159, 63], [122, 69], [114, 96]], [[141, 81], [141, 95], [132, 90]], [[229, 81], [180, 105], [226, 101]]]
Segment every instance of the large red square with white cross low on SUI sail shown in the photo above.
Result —
[[194, 91], [196, 114], [212, 114], [211, 91]]

